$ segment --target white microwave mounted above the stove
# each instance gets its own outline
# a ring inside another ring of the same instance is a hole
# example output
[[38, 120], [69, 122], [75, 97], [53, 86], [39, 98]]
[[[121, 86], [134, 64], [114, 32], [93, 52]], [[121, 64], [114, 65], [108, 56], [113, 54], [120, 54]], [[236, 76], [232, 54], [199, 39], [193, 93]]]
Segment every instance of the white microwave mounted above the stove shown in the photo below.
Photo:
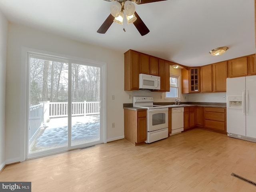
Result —
[[160, 90], [160, 77], [148, 74], [139, 74], [139, 89]]

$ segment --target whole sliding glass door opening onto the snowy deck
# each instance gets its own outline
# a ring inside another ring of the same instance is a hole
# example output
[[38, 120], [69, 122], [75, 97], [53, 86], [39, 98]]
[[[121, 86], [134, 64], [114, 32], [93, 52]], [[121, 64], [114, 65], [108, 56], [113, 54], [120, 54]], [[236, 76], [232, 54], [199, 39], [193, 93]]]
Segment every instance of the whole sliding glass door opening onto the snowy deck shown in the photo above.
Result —
[[28, 53], [27, 158], [103, 142], [102, 66]]

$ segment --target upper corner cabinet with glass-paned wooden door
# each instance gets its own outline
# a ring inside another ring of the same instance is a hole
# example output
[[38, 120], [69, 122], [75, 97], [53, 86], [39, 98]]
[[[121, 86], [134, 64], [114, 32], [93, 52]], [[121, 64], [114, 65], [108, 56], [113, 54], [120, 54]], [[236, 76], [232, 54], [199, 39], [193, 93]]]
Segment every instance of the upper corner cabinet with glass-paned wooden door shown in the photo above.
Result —
[[200, 92], [200, 67], [189, 68], [189, 92]]

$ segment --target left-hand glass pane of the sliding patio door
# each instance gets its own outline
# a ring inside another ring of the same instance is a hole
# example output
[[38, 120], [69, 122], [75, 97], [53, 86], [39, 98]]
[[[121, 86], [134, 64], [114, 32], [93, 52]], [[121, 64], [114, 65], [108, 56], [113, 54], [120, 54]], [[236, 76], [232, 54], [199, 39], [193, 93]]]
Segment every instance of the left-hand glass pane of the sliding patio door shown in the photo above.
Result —
[[68, 148], [68, 64], [35, 55], [29, 64], [28, 157], [32, 157]]

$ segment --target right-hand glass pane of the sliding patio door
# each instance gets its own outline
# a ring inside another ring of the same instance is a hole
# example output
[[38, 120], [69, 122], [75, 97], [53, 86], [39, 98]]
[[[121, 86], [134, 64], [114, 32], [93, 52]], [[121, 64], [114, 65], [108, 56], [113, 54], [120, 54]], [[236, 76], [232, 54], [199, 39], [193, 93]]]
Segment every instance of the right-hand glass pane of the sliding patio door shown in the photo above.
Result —
[[71, 146], [100, 141], [100, 68], [72, 64]]

